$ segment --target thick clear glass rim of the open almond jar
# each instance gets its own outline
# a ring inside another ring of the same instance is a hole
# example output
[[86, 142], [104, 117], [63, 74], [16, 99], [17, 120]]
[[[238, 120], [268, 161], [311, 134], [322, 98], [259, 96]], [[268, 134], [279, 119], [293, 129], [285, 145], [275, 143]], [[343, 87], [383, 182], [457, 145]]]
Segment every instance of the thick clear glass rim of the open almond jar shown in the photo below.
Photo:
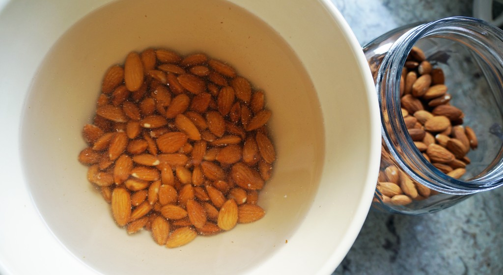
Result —
[[[503, 185], [503, 150], [469, 179], [453, 178], [437, 169], [416, 148], [405, 126], [400, 105], [400, 76], [408, 53], [420, 40], [442, 38], [467, 47], [473, 57], [486, 64], [484, 73], [498, 81], [493, 94], [503, 95], [503, 31], [478, 19], [451, 17], [410, 28], [390, 47], [377, 75], [383, 142], [397, 164], [414, 180], [433, 190], [466, 195]], [[502, 99], [503, 100], [503, 99]], [[498, 106], [503, 107], [502, 105]], [[501, 110], [499, 110], [501, 112]], [[501, 113], [499, 113], [501, 116]]]

